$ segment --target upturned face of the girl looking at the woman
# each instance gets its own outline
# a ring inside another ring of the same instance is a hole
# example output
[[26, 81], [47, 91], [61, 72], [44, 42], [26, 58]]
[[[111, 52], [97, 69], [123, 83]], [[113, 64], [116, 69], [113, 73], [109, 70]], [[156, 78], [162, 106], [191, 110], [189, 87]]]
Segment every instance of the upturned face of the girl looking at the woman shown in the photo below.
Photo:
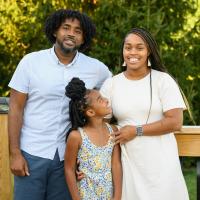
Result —
[[97, 90], [91, 90], [87, 96], [89, 101], [89, 109], [92, 109], [96, 116], [106, 116], [112, 113], [108, 100], [101, 96]]

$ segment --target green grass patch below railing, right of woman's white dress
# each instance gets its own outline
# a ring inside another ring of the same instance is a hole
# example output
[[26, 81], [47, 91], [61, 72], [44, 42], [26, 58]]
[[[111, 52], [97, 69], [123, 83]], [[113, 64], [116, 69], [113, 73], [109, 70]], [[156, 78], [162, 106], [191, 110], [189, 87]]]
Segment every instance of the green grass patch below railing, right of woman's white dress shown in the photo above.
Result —
[[184, 168], [183, 174], [187, 184], [190, 200], [197, 199], [197, 174], [196, 168]]

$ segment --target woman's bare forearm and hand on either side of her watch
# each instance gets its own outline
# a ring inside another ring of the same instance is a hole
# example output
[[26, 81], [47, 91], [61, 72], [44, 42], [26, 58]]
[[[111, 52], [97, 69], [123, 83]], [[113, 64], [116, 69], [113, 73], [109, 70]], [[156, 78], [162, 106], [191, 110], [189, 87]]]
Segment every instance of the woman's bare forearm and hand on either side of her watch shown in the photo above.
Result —
[[[142, 125], [144, 136], [156, 136], [179, 131], [183, 123], [183, 109], [175, 108], [164, 113], [163, 119]], [[115, 132], [116, 144], [124, 144], [136, 137], [136, 126], [127, 125]]]

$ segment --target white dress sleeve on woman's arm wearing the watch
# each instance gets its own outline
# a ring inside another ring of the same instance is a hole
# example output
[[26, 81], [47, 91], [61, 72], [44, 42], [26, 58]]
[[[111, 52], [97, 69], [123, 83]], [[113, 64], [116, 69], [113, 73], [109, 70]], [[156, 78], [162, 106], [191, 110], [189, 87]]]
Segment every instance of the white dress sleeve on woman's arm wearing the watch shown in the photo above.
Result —
[[186, 109], [183, 97], [176, 81], [167, 73], [164, 73], [159, 88], [163, 112], [174, 108]]

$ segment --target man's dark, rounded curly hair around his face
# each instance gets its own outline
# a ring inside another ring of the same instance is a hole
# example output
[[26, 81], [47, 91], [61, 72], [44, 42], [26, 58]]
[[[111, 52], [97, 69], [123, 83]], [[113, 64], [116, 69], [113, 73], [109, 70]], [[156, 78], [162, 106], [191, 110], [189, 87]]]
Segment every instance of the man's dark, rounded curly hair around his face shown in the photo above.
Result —
[[80, 46], [79, 51], [84, 51], [89, 47], [91, 40], [96, 33], [96, 27], [86, 14], [80, 13], [79, 11], [60, 9], [52, 13], [45, 22], [45, 34], [48, 40], [52, 44], [56, 42], [54, 33], [66, 19], [77, 19], [80, 22], [84, 43]]

